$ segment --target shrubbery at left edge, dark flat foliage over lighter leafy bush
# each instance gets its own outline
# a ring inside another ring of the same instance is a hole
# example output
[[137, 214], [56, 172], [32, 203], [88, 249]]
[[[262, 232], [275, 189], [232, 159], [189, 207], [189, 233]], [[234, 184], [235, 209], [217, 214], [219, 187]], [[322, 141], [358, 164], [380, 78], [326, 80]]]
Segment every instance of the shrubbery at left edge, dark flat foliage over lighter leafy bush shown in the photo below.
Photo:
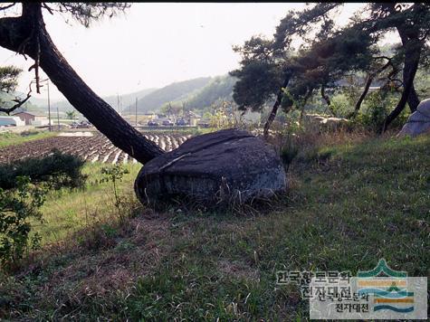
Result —
[[25, 252], [38, 248], [41, 237], [30, 238], [31, 219], [42, 220], [39, 208], [49, 189], [83, 187], [84, 161], [53, 150], [51, 155], [0, 166], [0, 263], [12, 267]]

